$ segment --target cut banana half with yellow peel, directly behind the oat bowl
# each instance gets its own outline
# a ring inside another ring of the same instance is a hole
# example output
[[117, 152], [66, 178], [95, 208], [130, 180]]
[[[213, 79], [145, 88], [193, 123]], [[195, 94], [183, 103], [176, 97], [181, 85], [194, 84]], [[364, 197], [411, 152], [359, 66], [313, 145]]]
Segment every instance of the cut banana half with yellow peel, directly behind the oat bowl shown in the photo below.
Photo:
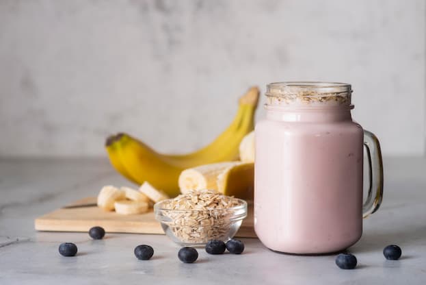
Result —
[[252, 199], [254, 164], [249, 162], [221, 162], [186, 169], [179, 177], [179, 188], [185, 194], [190, 190], [210, 189], [228, 196]]

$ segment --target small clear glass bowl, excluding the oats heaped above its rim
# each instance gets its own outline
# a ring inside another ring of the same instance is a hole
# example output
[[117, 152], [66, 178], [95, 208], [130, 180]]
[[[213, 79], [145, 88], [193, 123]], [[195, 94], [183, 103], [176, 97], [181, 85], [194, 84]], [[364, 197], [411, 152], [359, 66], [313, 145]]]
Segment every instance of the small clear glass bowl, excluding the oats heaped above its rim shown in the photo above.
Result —
[[[234, 198], [237, 199], [237, 198]], [[229, 240], [237, 233], [247, 216], [247, 203], [213, 210], [170, 210], [164, 208], [170, 199], [155, 203], [155, 219], [165, 234], [181, 246], [203, 246], [209, 240]]]

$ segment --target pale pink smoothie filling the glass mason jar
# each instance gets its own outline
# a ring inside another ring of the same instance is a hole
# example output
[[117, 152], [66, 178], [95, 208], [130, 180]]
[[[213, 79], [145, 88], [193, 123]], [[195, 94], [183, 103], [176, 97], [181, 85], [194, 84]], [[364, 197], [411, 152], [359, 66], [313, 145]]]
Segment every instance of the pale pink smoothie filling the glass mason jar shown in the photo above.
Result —
[[363, 130], [349, 108], [271, 108], [255, 137], [254, 227], [262, 243], [301, 254], [356, 243]]

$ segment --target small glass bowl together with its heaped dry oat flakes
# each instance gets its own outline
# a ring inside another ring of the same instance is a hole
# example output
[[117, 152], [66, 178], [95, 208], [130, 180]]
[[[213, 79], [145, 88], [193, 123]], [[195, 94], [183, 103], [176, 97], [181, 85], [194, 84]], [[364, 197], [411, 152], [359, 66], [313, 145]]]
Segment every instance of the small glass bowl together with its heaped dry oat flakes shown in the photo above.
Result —
[[212, 239], [232, 238], [247, 216], [247, 203], [214, 190], [194, 190], [155, 203], [154, 212], [175, 243], [202, 246]]

